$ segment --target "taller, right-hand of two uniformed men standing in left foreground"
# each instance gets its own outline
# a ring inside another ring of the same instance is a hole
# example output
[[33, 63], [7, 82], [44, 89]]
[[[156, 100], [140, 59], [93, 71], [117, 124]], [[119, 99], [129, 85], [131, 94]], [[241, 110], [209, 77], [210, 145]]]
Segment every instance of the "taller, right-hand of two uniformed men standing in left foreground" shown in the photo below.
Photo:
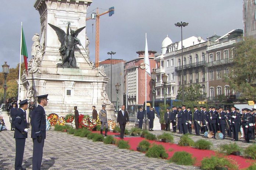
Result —
[[31, 115], [31, 126], [33, 139], [33, 158], [32, 158], [32, 170], [40, 170], [43, 158], [43, 145], [46, 138], [46, 118], [45, 109], [47, 106], [48, 95], [41, 95], [38, 97], [38, 107], [35, 108]]

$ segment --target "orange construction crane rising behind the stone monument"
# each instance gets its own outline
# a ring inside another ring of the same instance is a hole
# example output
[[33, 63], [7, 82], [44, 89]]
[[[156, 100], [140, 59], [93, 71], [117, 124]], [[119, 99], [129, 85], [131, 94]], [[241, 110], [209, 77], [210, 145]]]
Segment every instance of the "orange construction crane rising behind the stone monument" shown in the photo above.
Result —
[[114, 14], [114, 7], [109, 8], [109, 10], [99, 14], [99, 8], [97, 8], [96, 13], [93, 12], [90, 17], [86, 18], [86, 21], [89, 19], [96, 19], [96, 34], [95, 34], [95, 68], [99, 67], [99, 56], [100, 56], [100, 16], [109, 13], [109, 16]]

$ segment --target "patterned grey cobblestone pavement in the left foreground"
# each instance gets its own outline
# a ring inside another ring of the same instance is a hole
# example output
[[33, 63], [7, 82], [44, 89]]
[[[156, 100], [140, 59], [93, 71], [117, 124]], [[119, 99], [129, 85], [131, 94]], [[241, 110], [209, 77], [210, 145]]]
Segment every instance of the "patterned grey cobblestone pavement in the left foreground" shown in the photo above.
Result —
[[[154, 131], [161, 133], [164, 131]], [[28, 136], [31, 134], [29, 133]], [[14, 169], [15, 140], [13, 131], [0, 133], [0, 170]], [[178, 138], [178, 137], [177, 137]], [[26, 139], [23, 167], [32, 169], [32, 139]], [[199, 169], [167, 163], [164, 159], [148, 158], [145, 154], [115, 145], [92, 142], [64, 132], [47, 131], [43, 149], [42, 170], [184, 170]]]

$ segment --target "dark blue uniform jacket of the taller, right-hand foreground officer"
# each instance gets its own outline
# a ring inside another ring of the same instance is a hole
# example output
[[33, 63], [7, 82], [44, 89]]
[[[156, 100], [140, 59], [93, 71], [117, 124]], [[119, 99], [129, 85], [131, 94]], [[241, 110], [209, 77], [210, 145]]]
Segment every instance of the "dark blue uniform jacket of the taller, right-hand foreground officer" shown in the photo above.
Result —
[[31, 137], [33, 139], [40, 135], [42, 135], [43, 138], [46, 138], [45, 110], [40, 105], [38, 105], [31, 114], [31, 126]]

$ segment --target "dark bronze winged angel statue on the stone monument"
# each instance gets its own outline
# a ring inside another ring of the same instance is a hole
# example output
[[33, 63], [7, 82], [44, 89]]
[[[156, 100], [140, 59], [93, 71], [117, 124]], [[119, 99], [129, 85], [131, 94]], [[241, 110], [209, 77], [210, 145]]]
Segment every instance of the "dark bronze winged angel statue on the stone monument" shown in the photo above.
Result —
[[[62, 63], [60, 66], [62, 67], [77, 67], [77, 62], [74, 56], [75, 45], [82, 45], [80, 40], [77, 38], [78, 34], [85, 28], [81, 27], [78, 30], [70, 29], [70, 22], [68, 22], [67, 34], [59, 27], [54, 26], [48, 23], [56, 32], [58, 36], [58, 40], [61, 42], [61, 46], [59, 48], [60, 55], [62, 56]], [[70, 33], [69, 33], [70, 29]]]

